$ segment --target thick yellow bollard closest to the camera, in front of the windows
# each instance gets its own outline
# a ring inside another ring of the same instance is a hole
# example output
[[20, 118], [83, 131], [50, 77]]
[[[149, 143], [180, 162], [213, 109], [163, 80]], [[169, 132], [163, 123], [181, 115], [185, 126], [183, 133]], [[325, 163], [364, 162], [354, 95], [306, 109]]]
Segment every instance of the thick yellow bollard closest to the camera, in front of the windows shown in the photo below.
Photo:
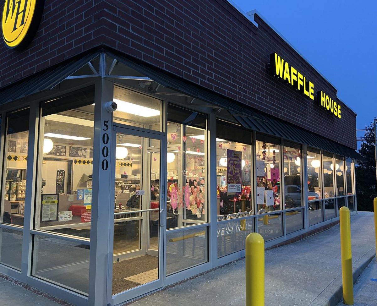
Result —
[[246, 306], [264, 306], [264, 240], [258, 233], [246, 237]]

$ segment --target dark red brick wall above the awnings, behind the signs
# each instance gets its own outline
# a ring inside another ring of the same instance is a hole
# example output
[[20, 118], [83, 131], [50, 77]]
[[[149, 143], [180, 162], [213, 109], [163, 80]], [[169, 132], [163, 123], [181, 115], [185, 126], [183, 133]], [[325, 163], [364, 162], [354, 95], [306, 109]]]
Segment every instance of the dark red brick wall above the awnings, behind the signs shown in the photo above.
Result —
[[[356, 148], [356, 115], [342, 119], [267, 72], [277, 52], [336, 99], [336, 90], [256, 16], [256, 28], [226, 0], [45, 1], [24, 51], [0, 47], [0, 87], [104, 44], [228, 98]], [[339, 99], [338, 99], [339, 101]]]

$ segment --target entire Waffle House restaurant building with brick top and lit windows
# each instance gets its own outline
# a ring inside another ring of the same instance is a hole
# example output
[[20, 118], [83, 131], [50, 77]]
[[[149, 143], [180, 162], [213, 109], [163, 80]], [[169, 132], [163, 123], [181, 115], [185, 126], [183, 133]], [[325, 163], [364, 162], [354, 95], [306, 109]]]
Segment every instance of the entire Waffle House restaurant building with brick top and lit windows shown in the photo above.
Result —
[[15, 3], [2, 8], [1, 273], [117, 305], [245, 256], [251, 232], [268, 247], [356, 212], [356, 114], [257, 12]]

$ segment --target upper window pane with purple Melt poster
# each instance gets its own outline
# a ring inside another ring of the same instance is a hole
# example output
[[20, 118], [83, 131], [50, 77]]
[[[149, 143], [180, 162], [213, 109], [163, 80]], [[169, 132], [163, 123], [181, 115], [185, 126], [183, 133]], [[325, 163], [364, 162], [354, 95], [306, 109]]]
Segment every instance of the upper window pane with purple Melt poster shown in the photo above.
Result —
[[221, 120], [216, 131], [217, 215], [253, 214], [251, 132]]

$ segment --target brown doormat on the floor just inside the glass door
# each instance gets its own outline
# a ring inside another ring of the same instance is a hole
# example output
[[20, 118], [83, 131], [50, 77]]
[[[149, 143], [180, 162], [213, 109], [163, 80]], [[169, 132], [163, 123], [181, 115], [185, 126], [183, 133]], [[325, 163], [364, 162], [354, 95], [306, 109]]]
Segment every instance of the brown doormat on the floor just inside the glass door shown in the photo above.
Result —
[[115, 262], [113, 263], [113, 280], [127, 278], [156, 268], [158, 268], [158, 257], [150, 255]]

